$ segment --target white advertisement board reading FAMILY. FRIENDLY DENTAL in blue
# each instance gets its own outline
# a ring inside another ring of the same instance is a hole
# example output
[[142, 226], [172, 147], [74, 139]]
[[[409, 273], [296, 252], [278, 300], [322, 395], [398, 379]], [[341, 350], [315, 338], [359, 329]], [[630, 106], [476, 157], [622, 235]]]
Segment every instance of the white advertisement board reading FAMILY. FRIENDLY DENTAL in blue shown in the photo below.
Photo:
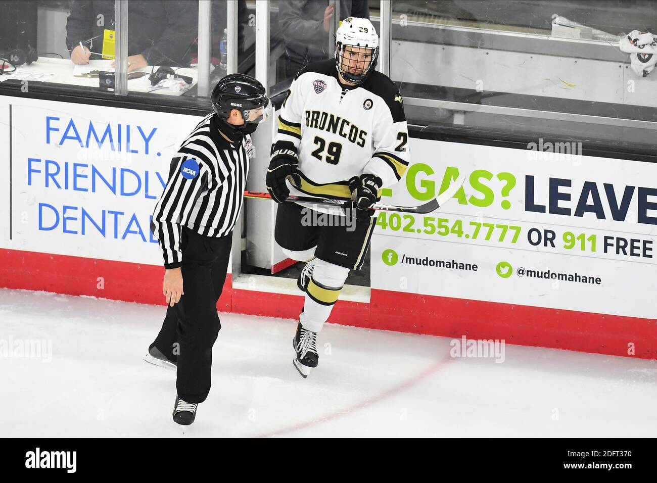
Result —
[[0, 112], [2, 248], [163, 264], [150, 217], [202, 117], [13, 97]]

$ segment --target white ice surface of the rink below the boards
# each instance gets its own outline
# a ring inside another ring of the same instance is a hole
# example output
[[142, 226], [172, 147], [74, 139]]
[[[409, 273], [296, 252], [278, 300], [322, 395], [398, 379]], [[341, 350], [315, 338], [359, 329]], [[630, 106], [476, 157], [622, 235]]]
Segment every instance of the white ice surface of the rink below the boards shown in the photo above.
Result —
[[[212, 390], [171, 419], [175, 372], [142, 360], [166, 308], [0, 289], [2, 436], [654, 436], [657, 363], [507, 345], [453, 358], [449, 338], [328, 324], [319, 368], [292, 366], [296, 321], [220, 314]], [[45, 346], [47, 348], [47, 345]], [[47, 352], [47, 350], [45, 351]]]

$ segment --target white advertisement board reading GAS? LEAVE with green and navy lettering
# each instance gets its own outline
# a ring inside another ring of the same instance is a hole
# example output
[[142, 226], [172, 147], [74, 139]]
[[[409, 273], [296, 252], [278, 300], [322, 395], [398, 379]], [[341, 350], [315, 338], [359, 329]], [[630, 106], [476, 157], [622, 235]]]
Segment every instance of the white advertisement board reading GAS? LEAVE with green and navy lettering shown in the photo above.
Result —
[[372, 288], [654, 317], [657, 166], [579, 149], [413, 139], [382, 202], [417, 205], [466, 181], [431, 214], [378, 215]]

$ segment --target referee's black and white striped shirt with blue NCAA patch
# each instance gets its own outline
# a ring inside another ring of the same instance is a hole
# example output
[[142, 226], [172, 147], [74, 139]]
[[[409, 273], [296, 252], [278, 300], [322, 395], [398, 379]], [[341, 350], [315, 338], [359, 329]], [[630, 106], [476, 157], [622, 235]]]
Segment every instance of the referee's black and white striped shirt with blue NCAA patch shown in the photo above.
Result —
[[169, 179], [151, 224], [165, 268], [182, 265], [183, 226], [206, 237], [231, 233], [242, 209], [250, 152], [250, 135], [229, 143], [219, 133], [214, 113], [183, 141], [171, 160]]

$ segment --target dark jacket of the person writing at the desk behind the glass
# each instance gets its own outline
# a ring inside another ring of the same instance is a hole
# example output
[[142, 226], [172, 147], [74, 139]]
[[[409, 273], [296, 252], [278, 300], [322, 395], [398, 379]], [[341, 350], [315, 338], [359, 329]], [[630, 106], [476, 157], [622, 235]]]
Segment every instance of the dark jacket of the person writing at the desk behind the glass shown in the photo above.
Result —
[[[113, 0], [74, 1], [66, 20], [66, 47], [72, 51], [82, 42], [91, 52], [102, 53], [105, 29], [114, 30]], [[197, 1], [129, 2], [128, 55], [141, 54], [150, 65], [189, 66], [190, 47], [197, 35]]]

